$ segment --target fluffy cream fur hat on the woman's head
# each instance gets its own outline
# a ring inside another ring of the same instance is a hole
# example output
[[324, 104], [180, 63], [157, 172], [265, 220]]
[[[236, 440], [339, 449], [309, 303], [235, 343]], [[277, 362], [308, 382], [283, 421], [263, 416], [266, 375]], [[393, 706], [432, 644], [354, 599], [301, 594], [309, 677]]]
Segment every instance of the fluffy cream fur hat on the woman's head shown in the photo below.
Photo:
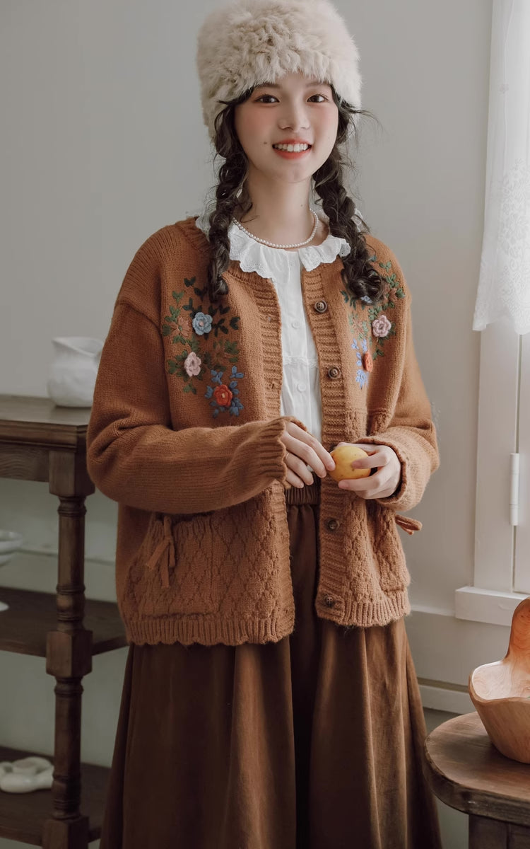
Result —
[[198, 34], [197, 67], [211, 138], [220, 101], [285, 74], [328, 82], [360, 108], [359, 53], [328, 0], [236, 0], [216, 9]]

